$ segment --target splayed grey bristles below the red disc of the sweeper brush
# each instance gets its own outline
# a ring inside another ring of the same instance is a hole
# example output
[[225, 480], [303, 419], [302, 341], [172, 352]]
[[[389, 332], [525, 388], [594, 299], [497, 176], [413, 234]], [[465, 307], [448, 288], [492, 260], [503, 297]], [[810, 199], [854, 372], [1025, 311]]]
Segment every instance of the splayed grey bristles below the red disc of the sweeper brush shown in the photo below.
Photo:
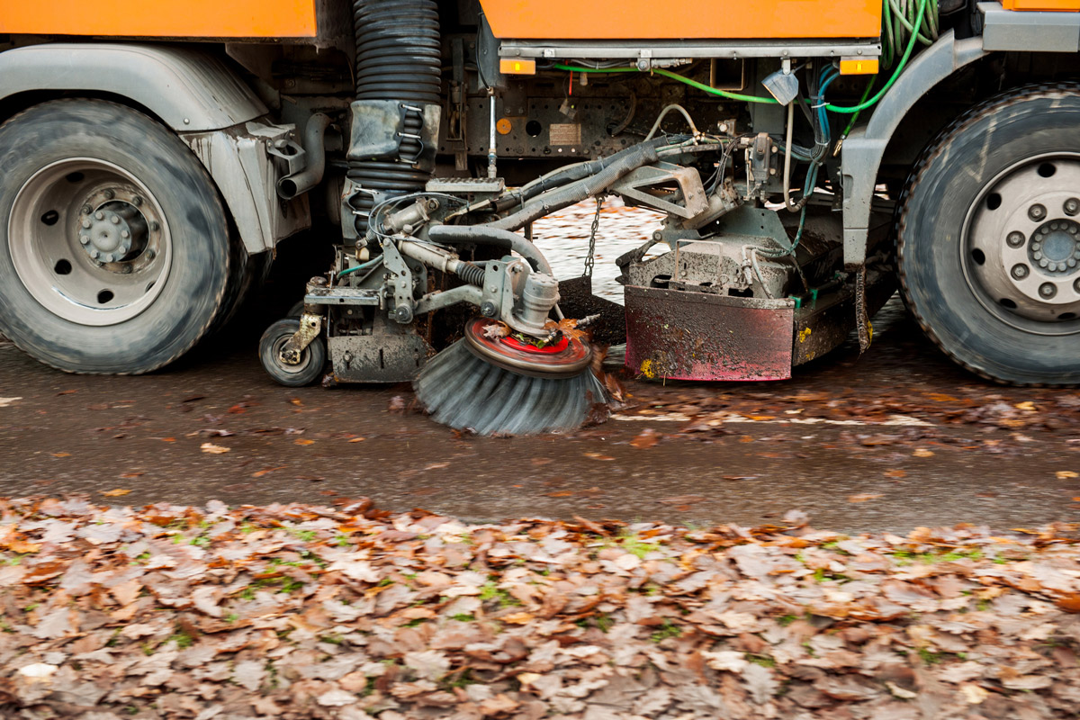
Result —
[[435, 422], [480, 435], [561, 433], [607, 417], [604, 386], [588, 369], [572, 378], [517, 375], [476, 357], [463, 340], [431, 358], [413, 388]]

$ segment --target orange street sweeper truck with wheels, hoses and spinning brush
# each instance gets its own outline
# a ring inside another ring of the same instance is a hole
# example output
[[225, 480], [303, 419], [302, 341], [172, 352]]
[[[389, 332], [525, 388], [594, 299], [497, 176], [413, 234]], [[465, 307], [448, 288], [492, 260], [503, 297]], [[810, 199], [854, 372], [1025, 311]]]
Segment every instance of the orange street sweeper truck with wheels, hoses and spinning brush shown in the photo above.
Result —
[[[0, 0], [0, 331], [62, 370], [171, 363], [310, 229], [267, 372], [480, 433], [603, 413], [594, 342], [787, 378], [897, 287], [1080, 383], [1080, 0]], [[623, 307], [531, 242], [608, 195], [663, 216]]]

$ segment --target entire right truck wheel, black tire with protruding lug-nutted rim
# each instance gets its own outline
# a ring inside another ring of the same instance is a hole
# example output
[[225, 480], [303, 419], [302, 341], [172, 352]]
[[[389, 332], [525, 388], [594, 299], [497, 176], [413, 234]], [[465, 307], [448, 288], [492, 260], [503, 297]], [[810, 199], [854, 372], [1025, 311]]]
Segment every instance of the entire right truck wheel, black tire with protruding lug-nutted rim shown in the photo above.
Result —
[[[1078, 138], [1080, 85], [1014, 90], [945, 128], [908, 179], [904, 299], [934, 343], [984, 378], [1080, 383], [1080, 216], [1068, 209], [1080, 198]], [[1058, 235], [1057, 271], [1039, 267], [1047, 233]]]

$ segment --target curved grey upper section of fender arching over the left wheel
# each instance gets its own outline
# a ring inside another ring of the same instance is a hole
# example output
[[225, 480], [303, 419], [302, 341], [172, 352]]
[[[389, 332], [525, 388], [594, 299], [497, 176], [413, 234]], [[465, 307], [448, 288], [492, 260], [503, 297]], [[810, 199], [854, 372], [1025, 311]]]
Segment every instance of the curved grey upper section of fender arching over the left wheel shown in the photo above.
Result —
[[0, 53], [0, 97], [41, 90], [127, 97], [177, 131], [224, 130], [267, 112], [218, 58], [162, 45], [50, 43]]

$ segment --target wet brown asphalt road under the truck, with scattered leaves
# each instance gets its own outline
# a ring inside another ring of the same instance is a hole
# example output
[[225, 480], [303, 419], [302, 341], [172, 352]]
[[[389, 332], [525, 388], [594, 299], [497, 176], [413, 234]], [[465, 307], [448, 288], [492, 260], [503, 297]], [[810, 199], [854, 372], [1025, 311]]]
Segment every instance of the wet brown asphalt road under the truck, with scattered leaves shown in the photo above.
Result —
[[[597, 267], [621, 252], [602, 241]], [[607, 423], [517, 438], [436, 425], [406, 385], [276, 385], [256, 347], [289, 304], [278, 298], [228, 338], [144, 377], [64, 375], [0, 340], [0, 494], [136, 505], [369, 495], [387, 510], [470, 520], [699, 526], [801, 510], [816, 527], [851, 531], [1080, 520], [1077, 392], [963, 372], [896, 298], [862, 357], [849, 341], [772, 383], [623, 377], [625, 407]]]

